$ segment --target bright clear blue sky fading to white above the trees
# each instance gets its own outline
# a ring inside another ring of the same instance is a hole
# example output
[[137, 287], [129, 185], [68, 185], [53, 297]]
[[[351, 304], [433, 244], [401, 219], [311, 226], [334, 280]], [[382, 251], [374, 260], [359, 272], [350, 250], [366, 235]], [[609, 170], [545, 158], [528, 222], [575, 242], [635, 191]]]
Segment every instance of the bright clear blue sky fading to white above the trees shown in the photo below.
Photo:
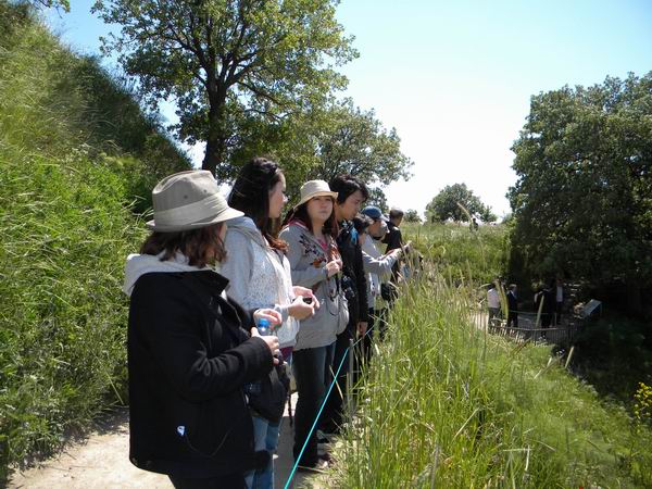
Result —
[[[70, 14], [49, 15], [88, 53], [108, 30], [89, 13], [92, 3], [71, 0]], [[531, 95], [652, 71], [652, 2], [644, 0], [343, 0], [338, 18], [360, 51], [341, 68], [344, 95], [396, 127], [415, 162], [412, 179], [386, 190], [388, 201], [419, 212], [455, 183], [499, 215], [509, 212], [510, 147]], [[172, 117], [170, 106], [163, 112]]]

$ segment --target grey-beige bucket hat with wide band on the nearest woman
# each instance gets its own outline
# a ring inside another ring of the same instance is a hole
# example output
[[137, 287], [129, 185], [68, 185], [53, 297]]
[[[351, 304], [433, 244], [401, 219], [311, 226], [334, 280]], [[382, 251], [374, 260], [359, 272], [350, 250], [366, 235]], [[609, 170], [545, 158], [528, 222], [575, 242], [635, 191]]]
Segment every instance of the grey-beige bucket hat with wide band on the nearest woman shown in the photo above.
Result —
[[158, 233], [199, 229], [244, 215], [220, 195], [217, 181], [205, 170], [175, 173], [152, 190], [154, 218], [147, 227]]

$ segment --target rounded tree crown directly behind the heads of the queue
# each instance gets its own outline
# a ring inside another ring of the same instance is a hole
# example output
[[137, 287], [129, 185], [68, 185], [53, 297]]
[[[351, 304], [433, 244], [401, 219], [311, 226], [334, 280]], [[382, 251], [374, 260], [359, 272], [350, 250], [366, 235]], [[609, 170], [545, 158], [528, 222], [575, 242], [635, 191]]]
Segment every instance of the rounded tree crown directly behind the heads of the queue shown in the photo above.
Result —
[[410, 178], [413, 165], [401, 152], [396, 129], [387, 130], [373, 110], [363, 111], [350, 99], [294, 113], [277, 124], [251, 120], [239, 139], [228, 177], [251, 156], [268, 154], [285, 168], [290, 197], [308, 179], [328, 181], [350, 173], [375, 188], [375, 204], [387, 209], [381, 187]]

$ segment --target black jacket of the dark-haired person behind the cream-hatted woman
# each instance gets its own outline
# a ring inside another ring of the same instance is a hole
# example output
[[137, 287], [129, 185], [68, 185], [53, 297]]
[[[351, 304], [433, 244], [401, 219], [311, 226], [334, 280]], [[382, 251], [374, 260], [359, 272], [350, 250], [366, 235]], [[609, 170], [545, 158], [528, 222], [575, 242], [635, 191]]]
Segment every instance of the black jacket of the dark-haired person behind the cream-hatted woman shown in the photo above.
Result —
[[358, 240], [358, 231], [348, 221], [340, 223], [340, 233], [337, 237], [337, 248], [342, 256], [342, 275], [348, 277], [342, 280], [342, 287], [346, 285], [351, 287], [355, 294], [349, 300], [349, 326], [350, 331], [355, 330], [355, 325], [363, 321], [369, 319], [369, 311], [367, 303], [367, 281], [364, 273], [364, 262], [362, 261], [362, 248]]

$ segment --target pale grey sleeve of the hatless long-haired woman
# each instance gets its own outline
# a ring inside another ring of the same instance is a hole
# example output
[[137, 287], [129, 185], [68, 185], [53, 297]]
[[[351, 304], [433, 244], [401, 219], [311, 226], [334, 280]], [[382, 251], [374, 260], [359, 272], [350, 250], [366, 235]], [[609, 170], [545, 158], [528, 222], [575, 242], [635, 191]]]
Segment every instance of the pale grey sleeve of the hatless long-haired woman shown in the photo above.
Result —
[[249, 283], [253, 271], [253, 250], [251, 239], [237, 230], [226, 233], [224, 247], [226, 260], [221, 263], [220, 274], [228, 278], [227, 293], [231, 299], [244, 304]]

